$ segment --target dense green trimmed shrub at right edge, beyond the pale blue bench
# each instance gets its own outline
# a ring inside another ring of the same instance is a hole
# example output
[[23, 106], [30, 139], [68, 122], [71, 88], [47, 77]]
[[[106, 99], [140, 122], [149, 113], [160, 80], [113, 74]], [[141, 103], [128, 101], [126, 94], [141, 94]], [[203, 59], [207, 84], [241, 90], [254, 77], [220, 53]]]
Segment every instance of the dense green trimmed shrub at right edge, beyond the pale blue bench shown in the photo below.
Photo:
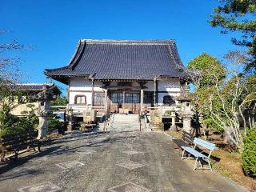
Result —
[[250, 177], [256, 177], [256, 126], [247, 130], [243, 138], [244, 150], [242, 151], [242, 169]]

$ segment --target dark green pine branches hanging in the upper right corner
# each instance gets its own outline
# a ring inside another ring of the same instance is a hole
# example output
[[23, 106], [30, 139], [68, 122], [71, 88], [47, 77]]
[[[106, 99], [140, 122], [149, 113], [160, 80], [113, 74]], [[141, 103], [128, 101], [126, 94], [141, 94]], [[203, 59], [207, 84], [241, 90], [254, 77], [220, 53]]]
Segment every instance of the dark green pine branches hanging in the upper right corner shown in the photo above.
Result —
[[255, 0], [222, 0], [211, 14], [210, 25], [222, 27], [222, 33], [238, 31], [240, 39], [232, 38], [238, 46], [246, 46], [252, 58], [248, 58], [246, 70], [256, 70], [256, 2]]

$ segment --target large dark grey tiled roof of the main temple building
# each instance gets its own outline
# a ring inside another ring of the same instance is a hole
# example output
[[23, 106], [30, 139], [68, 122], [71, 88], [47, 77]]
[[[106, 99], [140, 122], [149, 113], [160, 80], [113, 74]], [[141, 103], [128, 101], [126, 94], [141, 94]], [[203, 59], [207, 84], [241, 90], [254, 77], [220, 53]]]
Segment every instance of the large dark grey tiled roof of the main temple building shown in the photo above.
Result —
[[102, 80], [187, 77], [174, 40], [80, 40], [68, 66], [45, 70], [45, 74], [62, 82], [70, 76]]

